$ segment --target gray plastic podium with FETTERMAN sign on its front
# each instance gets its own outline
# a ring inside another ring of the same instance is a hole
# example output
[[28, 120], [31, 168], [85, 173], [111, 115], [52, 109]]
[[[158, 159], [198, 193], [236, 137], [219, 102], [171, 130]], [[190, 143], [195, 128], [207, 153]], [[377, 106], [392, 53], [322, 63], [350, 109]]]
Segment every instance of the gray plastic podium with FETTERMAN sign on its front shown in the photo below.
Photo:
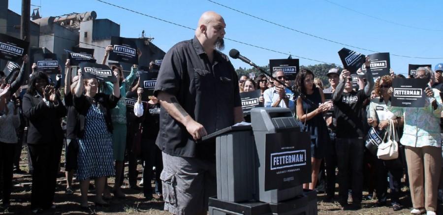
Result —
[[209, 214], [316, 215], [316, 192], [301, 183], [311, 178], [310, 142], [291, 139], [301, 133], [290, 110], [254, 108], [251, 122], [203, 139], [216, 139], [217, 197], [209, 199]]

